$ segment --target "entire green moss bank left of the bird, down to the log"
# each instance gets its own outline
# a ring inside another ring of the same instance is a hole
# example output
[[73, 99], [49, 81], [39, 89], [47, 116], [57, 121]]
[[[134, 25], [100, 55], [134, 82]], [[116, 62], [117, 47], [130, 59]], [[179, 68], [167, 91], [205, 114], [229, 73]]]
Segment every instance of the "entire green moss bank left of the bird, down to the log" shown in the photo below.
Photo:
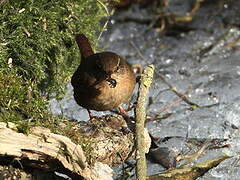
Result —
[[19, 132], [40, 125], [74, 136], [74, 123], [48, 112], [47, 95], [64, 93], [80, 63], [74, 34], [96, 42], [104, 16], [96, 0], [0, 2], [0, 121]]

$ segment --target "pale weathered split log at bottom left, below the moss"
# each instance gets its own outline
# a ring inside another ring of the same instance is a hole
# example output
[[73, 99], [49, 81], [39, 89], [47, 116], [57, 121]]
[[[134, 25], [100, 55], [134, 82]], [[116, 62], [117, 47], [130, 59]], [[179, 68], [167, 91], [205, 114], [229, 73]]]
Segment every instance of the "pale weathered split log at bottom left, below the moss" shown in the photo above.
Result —
[[42, 127], [25, 135], [0, 122], [0, 165], [9, 164], [28, 171], [59, 172], [72, 179], [112, 179], [109, 166], [100, 162], [90, 166], [81, 146], [69, 138]]

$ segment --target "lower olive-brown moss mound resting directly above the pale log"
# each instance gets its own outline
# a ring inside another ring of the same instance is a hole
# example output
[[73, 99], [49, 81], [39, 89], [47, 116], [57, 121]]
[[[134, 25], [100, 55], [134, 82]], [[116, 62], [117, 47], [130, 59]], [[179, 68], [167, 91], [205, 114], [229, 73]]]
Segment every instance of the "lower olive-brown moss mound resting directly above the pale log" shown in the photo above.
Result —
[[14, 69], [0, 69], [0, 121], [13, 122], [20, 132], [27, 133], [33, 125], [50, 127], [54, 120], [34, 82]]

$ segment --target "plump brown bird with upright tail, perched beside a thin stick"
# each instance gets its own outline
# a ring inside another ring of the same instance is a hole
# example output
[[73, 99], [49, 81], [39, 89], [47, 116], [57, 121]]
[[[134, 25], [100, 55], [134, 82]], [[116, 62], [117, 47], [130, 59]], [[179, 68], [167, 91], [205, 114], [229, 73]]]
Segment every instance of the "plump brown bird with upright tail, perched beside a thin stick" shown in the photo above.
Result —
[[94, 53], [87, 37], [76, 35], [81, 64], [72, 76], [74, 99], [89, 110], [106, 111], [127, 103], [136, 84], [131, 66], [113, 52]]

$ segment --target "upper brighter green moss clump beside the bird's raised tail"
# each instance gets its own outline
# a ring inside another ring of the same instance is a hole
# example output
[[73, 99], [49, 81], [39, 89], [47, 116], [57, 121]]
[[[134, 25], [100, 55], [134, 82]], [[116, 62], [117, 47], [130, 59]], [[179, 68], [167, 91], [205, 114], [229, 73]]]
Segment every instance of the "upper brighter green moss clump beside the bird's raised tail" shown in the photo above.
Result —
[[80, 60], [74, 34], [84, 32], [93, 40], [103, 16], [96, 0], [5, 1], [0, 6], [0, 67], [11, 58], [18, 74], [45, 92], [61, 93]]

